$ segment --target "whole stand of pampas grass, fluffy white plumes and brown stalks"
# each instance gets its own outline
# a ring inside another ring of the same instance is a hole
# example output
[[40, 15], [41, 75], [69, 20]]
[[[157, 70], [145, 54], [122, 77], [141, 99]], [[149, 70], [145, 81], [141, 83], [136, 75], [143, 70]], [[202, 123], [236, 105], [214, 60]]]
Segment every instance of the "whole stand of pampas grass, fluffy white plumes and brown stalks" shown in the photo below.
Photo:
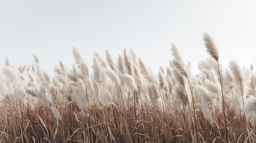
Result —
[[134, 51], [117, 62], [94, 52], [92, 71], [77, 47], [75, 64], [59, 60], [55, 75], [40, 66], [13, 66], [0, 73], [0, 141], [34, 143], [240, 143], [256, 142], [256, 73], [231, 60], [219, 62], [204, 33], [210, 57], [200, 74], [173, 44], [173, 59], [159, 73]]

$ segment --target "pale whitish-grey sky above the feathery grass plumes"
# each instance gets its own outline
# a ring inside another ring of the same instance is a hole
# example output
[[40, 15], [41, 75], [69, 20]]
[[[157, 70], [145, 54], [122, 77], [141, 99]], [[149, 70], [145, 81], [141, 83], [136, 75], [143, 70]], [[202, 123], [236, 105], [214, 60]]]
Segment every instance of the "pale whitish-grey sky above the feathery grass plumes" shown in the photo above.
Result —
[[155, 72], [168, 65], [171, 43], [184, 62], [209, 57], [202, 31], [214, 37], [220, 62], [256, 69], [256, 0], [11, 0], [0, 1], [0, 68], [31, 64], [33, 53], [52, 72], [58, 59], [73, 64], [72, 46], [92, 65], [93, 51], [117, 59], [132, 47]]

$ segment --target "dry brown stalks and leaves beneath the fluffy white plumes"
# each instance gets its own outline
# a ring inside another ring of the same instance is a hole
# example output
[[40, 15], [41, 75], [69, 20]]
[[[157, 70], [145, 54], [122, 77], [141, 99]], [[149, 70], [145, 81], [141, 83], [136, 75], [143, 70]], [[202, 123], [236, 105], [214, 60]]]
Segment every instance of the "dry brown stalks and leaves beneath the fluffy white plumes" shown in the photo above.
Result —
[[[142, 106], [140, 113], [135, 114], [122, 107], [110, 106], [103, 109], [90, 107], [83, 114], [77, 107], [58, 106], [62, 120], [54, 119], [52, 112], [43, 106], [34, 110], [24, 107], [21, 103], [2, 105], [1, 140], [4, 142], [196, 142], [196, 134], [189, 125], [184, 112], [163, 113], [153, 111], [148, 106]], [[11, 110], [12, 109], [12, 110]], [[198, 141], [225, 142], [228, 134], [230, 142], [243, 142], [244, 136], [242, 117], [234, 120], [234, 112], [228, 112], [229, 132], [224, 129], [222, 114], [214, 117], [215, 125], [204, 119], [202, 112], [197, 111], [196, 126]], [[249, 141], [256, 142], [255, 128], [247, 127]]]

